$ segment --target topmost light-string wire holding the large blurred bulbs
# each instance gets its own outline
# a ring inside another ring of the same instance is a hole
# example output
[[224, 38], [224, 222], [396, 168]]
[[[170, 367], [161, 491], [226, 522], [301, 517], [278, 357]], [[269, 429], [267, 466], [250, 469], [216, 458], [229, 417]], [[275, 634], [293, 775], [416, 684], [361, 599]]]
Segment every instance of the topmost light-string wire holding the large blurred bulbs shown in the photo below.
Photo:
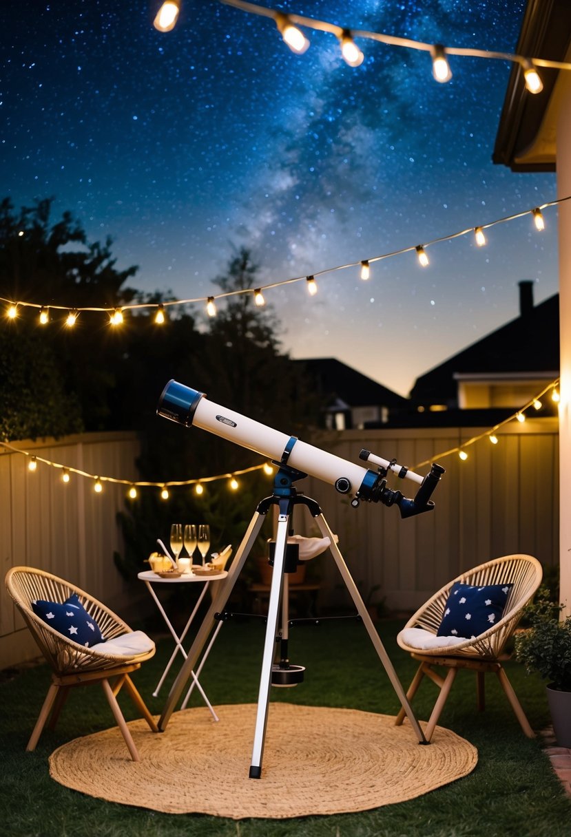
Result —
[[[297, 23], [309, 29], [318, 30], [321, 32], [328, 32], [341, 39], [344, 33], [350, 33], [352, 38], [366, 38], [373, 41], [378, 41], [381, 44], [388, 44], [389, 46], [404, 47], [405, 49], [417, 49], [422, 52], [434, 53], [436, 44], [427, 44], [422, 41], [416, 41], [409, 38], [399, 38], [396, 35], [388, 35], [381, 32], [369, 32], [367, 29], [355, 29], [348, 26], [338, 26], [336, 23], [328, 23], [326, 20], [317, 20], [316, 18], [306, 18], [304, 15], [284, 12], [265, 6], [258, 6], [255, 3], [244, 3], [243, 0], [219, 0], [224, 6], [233, 6], [239, 8], [243, 12], [250, 14], [257, 14], [265, 18], [273, 18], [276, 23], [279, 18], [287, 18], [290, 23]], [[567, 61], [552, 61], [543, 58], [532, 58], [529, 55], [518, 55], [515, 53], [495, 52], [487, 49], [471, 49], [465, 47], [449, 47], [445, 46], [444, 52], [447, 55], [461, 55], [471, 58], [484, 58], [499, 61], [509, 61], [512, 64], [520, 64], [523, 69], [527, 69], [529, 64], [538, 67], [548, 67], [550, 69], [571, 69], [571, 64]]]

